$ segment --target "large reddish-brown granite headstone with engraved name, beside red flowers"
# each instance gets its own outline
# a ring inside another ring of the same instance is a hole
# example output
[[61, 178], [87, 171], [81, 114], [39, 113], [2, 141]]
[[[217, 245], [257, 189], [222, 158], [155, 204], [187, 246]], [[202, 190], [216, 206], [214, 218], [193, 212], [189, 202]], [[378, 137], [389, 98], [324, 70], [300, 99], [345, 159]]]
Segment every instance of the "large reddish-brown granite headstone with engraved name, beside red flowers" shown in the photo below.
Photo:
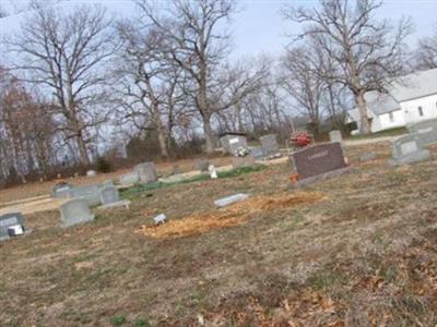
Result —
[[324, 179], [349, 170], [341, 144], [324, 143], [305, 147], [292, 153], [298, 185]]

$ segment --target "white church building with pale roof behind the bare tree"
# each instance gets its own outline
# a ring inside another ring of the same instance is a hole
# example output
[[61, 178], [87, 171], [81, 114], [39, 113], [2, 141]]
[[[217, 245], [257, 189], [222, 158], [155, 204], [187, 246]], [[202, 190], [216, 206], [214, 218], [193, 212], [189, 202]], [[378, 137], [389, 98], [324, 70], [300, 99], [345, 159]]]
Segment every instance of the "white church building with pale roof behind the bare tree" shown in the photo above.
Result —
[[[437, 69], [400, 77], [388, 94], [369, 92], [365, 95], [371, 132], [406, 126], [437, 118]], [[356, 122], [359, 133], [358, 108], [347, 111], [346, 123]]]

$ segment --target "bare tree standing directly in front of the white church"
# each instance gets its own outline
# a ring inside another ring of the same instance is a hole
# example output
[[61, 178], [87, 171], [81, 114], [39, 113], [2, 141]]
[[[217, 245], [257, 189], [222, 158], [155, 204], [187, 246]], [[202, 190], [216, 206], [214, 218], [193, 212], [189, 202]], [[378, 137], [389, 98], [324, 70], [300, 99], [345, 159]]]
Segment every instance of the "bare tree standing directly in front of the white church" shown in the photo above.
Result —
[[317, 43], [336, 64], [324, 71], [334, 83], [353, 94], [361, 116], [361, 131], [370, 133], [365, 94], [386, 92], [404, 69], [405, 37], [412, 25], [402, 20], [394, 28], [389, 21], [375, 19], [381, 7], [378, 0], [320, 0], [316, 8], [288, 8], [286, 19], [302, 23], [297, 39]]

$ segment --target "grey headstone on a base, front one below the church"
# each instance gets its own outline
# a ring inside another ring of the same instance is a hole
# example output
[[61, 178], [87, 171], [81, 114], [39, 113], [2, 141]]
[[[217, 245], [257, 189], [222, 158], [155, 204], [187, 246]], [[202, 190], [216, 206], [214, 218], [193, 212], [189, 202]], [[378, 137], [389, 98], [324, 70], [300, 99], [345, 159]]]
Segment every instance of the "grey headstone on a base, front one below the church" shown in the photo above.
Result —
[[430, 158], [430, 153], [420, 146], [420, 136], [417, 133], [406, 134], [392, 141], [391, 150], [392, 159], [389, 161], [391, 166], [403, 164], [412, 164]]

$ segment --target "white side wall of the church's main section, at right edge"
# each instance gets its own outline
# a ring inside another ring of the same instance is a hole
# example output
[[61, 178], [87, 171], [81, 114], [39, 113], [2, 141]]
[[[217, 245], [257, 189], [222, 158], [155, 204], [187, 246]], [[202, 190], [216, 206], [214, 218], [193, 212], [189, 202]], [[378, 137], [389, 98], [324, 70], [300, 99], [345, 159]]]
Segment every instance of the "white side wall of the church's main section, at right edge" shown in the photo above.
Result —
[[[418, 107], [422, 107], [422, 117], [418, 114]], [[437, 118], [437, 94], [401, 102], [401, 108], [404, 111], [406, 124], [421, 120]]]

